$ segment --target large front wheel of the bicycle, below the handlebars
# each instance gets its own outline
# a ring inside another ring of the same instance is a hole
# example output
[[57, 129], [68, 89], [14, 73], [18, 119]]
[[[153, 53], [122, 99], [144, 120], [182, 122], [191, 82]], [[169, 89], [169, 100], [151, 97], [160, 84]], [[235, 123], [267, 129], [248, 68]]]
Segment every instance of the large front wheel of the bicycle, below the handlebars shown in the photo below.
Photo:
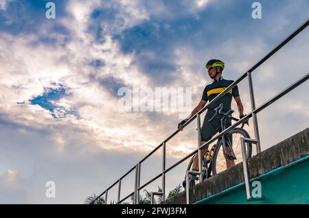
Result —
[[[240, 128], [235, 128], [231, 130], [227, 134], [227, 140], [231, 140], [231, 145], [234, 154], [236, 155], [236, 160], [234, 160], [234, 164], [238, 164], [242, 162], [242, 146], [240, 142], [240, 138], [250, 138], [250, 135], [247, 131]], [[220, 173], [227, 169], [227, 162], [225, 160], [225, 154], [223, 153], [222, 149], [222, 140], [218, 140], [216, 145], [216, 149], [214, 152], [214, 156], [212, 157], [213, 160], [211, 161], [211, 169], [212, 175], [216, 175], [216, 173]], [[252, 155], [252, 144], [247, 143], [247, 158], [251, 157]]]

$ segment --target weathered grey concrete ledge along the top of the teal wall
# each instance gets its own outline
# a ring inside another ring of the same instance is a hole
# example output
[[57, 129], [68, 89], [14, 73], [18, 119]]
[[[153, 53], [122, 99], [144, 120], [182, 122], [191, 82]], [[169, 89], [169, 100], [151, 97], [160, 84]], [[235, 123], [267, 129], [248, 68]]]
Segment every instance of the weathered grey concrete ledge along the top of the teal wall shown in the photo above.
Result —
[[[249, 176], [251, 179], [260, 177], [307, 155], [309, 155], [309, 128], [252, 157], [248, 162]], [[221, 193], [223, 190], [243, 182], [243, 168], [242, 163], [240, 163], [190, 188], [190, 204]], [[162, 204], [185, 203], [185, 191], [183, 191], [179, 195], [166, 199]]]

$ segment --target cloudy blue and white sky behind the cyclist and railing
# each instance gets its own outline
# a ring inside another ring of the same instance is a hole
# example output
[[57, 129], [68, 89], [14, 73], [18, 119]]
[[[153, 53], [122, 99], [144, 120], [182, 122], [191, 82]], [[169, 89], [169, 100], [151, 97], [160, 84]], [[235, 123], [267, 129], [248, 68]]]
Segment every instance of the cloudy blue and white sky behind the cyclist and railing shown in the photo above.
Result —
[[[259, 1], [262, 18], [253, 19], [254, 1], [244, 0], [57, 0], [56, 18], [47, 19], [47, 2], [0, 0], [0, 204], [83, 204], [100, 194], [181, 121], [172, 105], [122, 110], [121, 87], [132, 96], [138, 88], [190, 88], [194, 109], [211, 83], [209, 59], [224, 61], [223, 77], [236, 80], [309, 10], [309, 1]], [[308, 73], [308, 36], [307, 28], [253, 72], [257, 107]], [[238, 87], [250, 113], [247, 79]], [[262, 150], [308, 128], [308, 93], [306, 82], [258, 113]], [[140, 96], [131, 106], [152, 100]], [[196, 146], [192, 122], [167, 143], [167, 167]], [[160, 171], [161, 150], [141, 165], [141, 184]], [[184, 171], [167, 174], [167, 190]], [[133, 179], [122, 182], [122, 197]], [[55, 197], [45, 195], [48, 181]], [[117, 186], [108, 196], [116, 199]]]

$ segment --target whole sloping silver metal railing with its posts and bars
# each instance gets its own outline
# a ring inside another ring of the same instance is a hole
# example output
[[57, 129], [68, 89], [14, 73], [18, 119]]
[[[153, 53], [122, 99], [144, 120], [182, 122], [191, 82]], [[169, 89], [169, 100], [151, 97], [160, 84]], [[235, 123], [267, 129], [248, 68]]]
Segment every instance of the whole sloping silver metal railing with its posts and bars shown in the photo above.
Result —
[[[118, 195], [117, 195], [117, 204], [121, 204], [123, 201], [125, 201], [126, 199], [128, 199], [128, 197], [133, 196], [134, 199], [134, 204], [138, 204], [139, 203], [139, 190], [141, 190], [142, 188], [148, 186], [148, 184], [154, 182], [156, 179], [158, 179], [159, 177], [162, 177], [162, 193], [152, 193], [152, 200], [153, 200], [153, 196], [154, 195], [161, 195], [162, 196], [162, 200], [165, 200], [165, 174], [168, 173], [170, 170], [172, 170], [172, 168], [178, 166], [179, 164], [181, 164], [182, 162], [184, 162], [185, 160], [187, 160], [188, 158], [192, 157], [192, 155], [195, 155], [196, 153], [198, 153], [198, 166], [199, 166], [199, 171], [198, 174], [200, 174], [200, 182], [203, 182], [203, 171], [201, 170], [201, 160], [202, 160], [202, 155], [201, 155], [201, 151], [203, 149], [206, 148], [206, 146], [208, 146], [209, 144], [211, 144], [212, 142], [218, 140], [218, 138], [222, 137], [222, 135], [225, 135], [226, 133], [228, 133], [229, 131], [231, 131], [232, 129], [234, 129], [235, 127], [237, 127], [239, 124], [242, 124], [242, 122], [246, 122], [247, 120], [249, 120], [249, 118], [253, 118], [253, 130], [254, 130], [254, 135], [255, 135], [255, 140], [251, 139], [251, 142], [254, 142], [254, 144], [256, 144], [257, 146], [257, 153], [261, 152], [261, 147], [260, 147], [260, 135], [259, 135], [259, 130], [258, 130], [258, 118], [257, 118], [257, 113], [259, 113], [260, 111], [262, 111], [264, 108], [268, 107], [269, 105], [271, 105], [273, 102], [275, 102], [276, 100], [278, 100], [279, 98], [282, 98], [282, 96], [286, 95], [289, 91], [295, 89], [296, 87], [298, 87], [299, 85], [301, 85], [302, 83], [306, 82], [306, 80], [308, 80], [309, 78], [309, 73], [305, 74], [305, 76], [303, 78], [300, 78], [299, 80], [297, 80], [297, 82], [293, 83], [292, 85], [290, 85], [288, 88], [284, 89], [283, 91], [281, 91], [279, 94], [277, 94], [277, 96], [274, 96], [273, 98], [271, 98], [270, 100], [268, 100], [267, 102], [264, 102], [264, 104], [262, 104], [260, 107], [256, 108], [255, 107], [255, 98], [254, 98], [254, 93], [253, 93], [253, 80], [252, 80], [252, 76], [251, 73], [257, 69], [260, 65], [262, 65], [262, 63], [264, 63], [268, 58], [270, 58], [271, 56], [273, 56], [273, 54], [275, 54], [278, 50], [280, 50], [282, 47], [284, 47], [284, 45], [286, 45], [286, 43], [288, 43], [290, 40], [292, 40], [295, 36], [297, 36], [297, 34], [299, 34], [302, 30], [304, 30], [307, 26], [309, 25], [309, 19], [303, 23], [299, 28], [297, 28], [297, 30], [295, 30], [293, 33], [291, 33], [288, 37], [286, 37], [286, 39], [284, 39], [281, 43], [279, 43], [279, 45], [277, 45], [273, 50], [271, 50], [271, 52], [269, 52], [268, 54], [266, 54], [266, 56], [264, 56], [260, 61], [258, 61], [258, 63], [255, 63], [255, 65], [253, 65], [253, 67], [251, 67], [247, 72], [245, 72], [244, 74], [242, 74], [242, 76], [240, 76], [240, 78], [238, 78], [235, 82], [233, 82], [231, 85], [229, 85], [229, 87], [227, 87], [224, 91], [222, 91], [218, 96], [216, 96], [216, 98], [214, 98], [214, 100], [211, 100], [211, 102], [209, 102], [209, 104], [205, 105], [205, 107], [203, 107], [203, 109], [201, 109], [200, 111], [198, 111], [194, 116], [192, 116], [192, 118], [190, 118], [189, 120], [187, 120], [187, 122], [185, 122], [185, 124], [183, 125], [183, 127], [186, 127], [187, 124], [190, 124], [190, 122], [192, 122], [193, 120], [195, 120], [195, 118], [197, 118], [197, 130], [198, 130], [198, 149], [192, 151], [192, 153], [188, 154], [187, 156], [183, 157], [181, 160], [179, 160], [179, 162], [176, 162], [176, 164], [170, 166], [169, 168], [165, 168], [165, 149], [166, 149], [166, 143], [172, 139], [174, 137], [174, 135], [176, 135], [177, 133], [179, 133], [179, 130], [176, 130], [174, 133], [172, 133], [172, 135], [170, 135], [168, 138], [166, 138], [161, 144], [159, 144], [159, 146], [157, 146], [157, 148], [155, 148], [153, 151], [151, 151], [148, 155], [146, 155], [146, 157], [144, 157], [141, 161], [139, 161], [133, 168], [131, 168], [126, 174], [124, 174], [122, 177], [120, 177], [117, 182], [115, 182], [114, 184], [112, 184], [110, 187], [108, 187], [106, 190], [104, 190], [104, 192], [100, 195], [98, 195], [98, 197], [96, 199], [94, 199], [91, 204], [93, 204], [95, 202], [95, 200], [99, 199], [100, 197], [102, 197], [102, 195], [105, 194], [105, 204], [107, 203], [107, 194], [108, 194], [108, 190], [110, 190], [111, 188], [113, 188], [113, 186], [115, 186], [116, 184], [118, 184]], [[227, 129], [225, 129], [225, 131], [222, 131], [221, 133], [219, 133], [218, 135], [216, 135], [214, 138], [211, 138], [211, 140], [209, 140], [208, 142], [205, 142], [204, 144], [201, 145], [201, 113], [203, 113], [205, 110], [207, 110], [211, 105], [213, 105], [215, 102], [217, 102], [220, 98], [222, 98], [222, 96], [225, 96], [225, 94], [227, 94], [227, 92], [232, 89], [233, 87], [235, 87], [236, 85], [238, 85], [238, 83], [240, 83], [244, 78], [248, 77], [248, 82], [249, 82], [249, 91], [250, 91], [250, 100], [251, 100], [251, 109], [252, 111], [250, 113], [248, 113], [246, 116], [244, 116], [244, 118], [242, 118], [241, 120], [239, 120], [238, 122], [235, 122], [234, 124], [232, 124], [230, 127], [228, 127]], [[245, 140], [249, 140], [249, 139], [245, 139]], [[245, 143], [245, 140], [242, 141], [242, 143]], [[244, 145], [243, 145], [244, 146]], [[163, 152], [162, 152], [162, 172], [155, 176], [154, 178], [150, 179], [150, 181], [146, 182], [146, 184], [144, 184], [143, 186], [140, 186], [140, 176], [141, 176], [141, 163], [143, 163], [146, 159], [148, 159], [148, 157], [150, 157], [150, 155], [152, 155], [153, 153], [155, 153], [158, 149], [163, 148]], [[245, 160], [245, 163], [247, 164], [247, 160]], [[244, 166], [246, 167], [246, 166]], [[120, 191], [121, 191], [121, 182], [122, 179], [124, 177], [126, 177], [126, 175], [128, 175], [129, 173], [131, 173], [133, 170], [135, 170], [135, 189], [133, 191], [133, 193], [130, 193], [129, 195], [127, 195], [126, 197], [124, 197], [123, 199], [120, 200]], [[186, 177], [189, 176], [189, 174], [192, 173], [192, 171], [188, 171], [186, 174]], [[196, 172], [193, 172], [196, 173]], [[244, 172], [245, 173], [245, 172]], [[246, 177], [246, 176], [245, 176]], [[247, 177], [248, 179], [249, 177]], [[188, 183], [188, 182], [187, 182]], [[247, 181], [247, 183], [249, 184], [249, 181]], [[246, 186], [247, 188], [247, 186]], [[190, 203], [190, 199], [189, 199], [189, 190], [190, 188], [186, 188], [187, 191], [187, 204]], [[249, 196], [250, 197], [250, 196]]]

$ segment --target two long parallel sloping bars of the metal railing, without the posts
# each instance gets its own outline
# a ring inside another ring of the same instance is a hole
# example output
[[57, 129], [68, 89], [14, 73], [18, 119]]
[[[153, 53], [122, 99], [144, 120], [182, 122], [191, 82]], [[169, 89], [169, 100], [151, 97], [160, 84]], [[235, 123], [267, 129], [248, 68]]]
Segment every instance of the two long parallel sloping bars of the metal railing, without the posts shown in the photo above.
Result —
[[[247, 70], [247, 72], [245, 72], [244, 74], [242, 74], [242, 76], [240, 76], [237, 80], [235, 80], [231, 85], [229, 85], [229, 87], [227, 87], [224, 91], [222, 91], [218, 96], [216, 96], [216, 98], [214, 98], [213, 100], [211, 100], [211, 102], [209, 102], [207, 105], [205, 105], [205, 107], [203, 107], [203, 109], [201, 109], [200, 111], [198, 111], [194, 116], [192, 116], [189, 120], [187, 120], [187, 122], [185, 122], [185, 124], [183, 124], [183, 127], [186, 127], [188, 124], [190, 124], [190, 122], [192, 122], [193, 120], [195, 120], [196, 116], [201, 115], [201, 113], [203, 113], [206, 109], [208, 109], [211, 105], [213, 105], [216, 101], [218, 101], [220, 98], [222, 98], [225, 94], [227, 94], [227, 92], [230, 89], [233, 89], [233, 87], [235, 87], [236, 85], [238, 85], [238, 83], [240, 83], [240, 81], [242, 81], [244, 78], [246, 78], [248, 76], [248, 74], [250, 74], [251, 72], [253, 72], [255, 69], [257, 69], [258, 67], [260, 67], [260, 65], [262, 65], [266, 60], [268, 60], [268, 58], [270, 58], [271, 56], [273, 56], [273, 54], [275, 54], [278, 50], [280, 50], [282, 47], [284, 47], [284, 45], [286, 45], [286, 43], [288, 43], [289, 41], [291, 41], [295, 36], [297, 36], [297, 34], [299, 34], [299, 32], [301, 32], [302, 30], [304, 30], [307, 26], [309, 25], [309, 19], [307, 19], [307, 21], [305, 21], [301, 26], [299, 26], [299, 28], [297, 28], [294, 32], [292, 32], [289, 36], [286, 37], [286, 39], [284, 39], [281, 43], [279, 43], [273, 50], [271, 50], [271, 52], [268, 52], [268, 54], [266, 54], [263, 58], [261, 58], [260, 61], [258, 61], [258, 63], [255, 63], [255, 65], [253, 65], [253, 67], [251, 67], [249, 70]], [[150, 184], [151, 182], [153, 182], [155, 179], [157, 179], [158, 177], [160, 177], [163, 173], [167, 173], [168, 171], [170, 171], [172, 168], [174, 168], [175, 166], [179, 165], [181, 162], [187, 160], [187, 158], [191, 157], [192, 155], [194, 155], [195, 153], [198, 152], [199, 149], [203, 149], [205, 148], [205, 146], [207, 146], [207, 144], [210, 144], [212, 142], [214, 142], [215, 140], [217, 140], [221, 135], [227, 133], [228, 131], [231, 131], [231, 129], [237, 127], [239, 124], [241, 124], [242, 122], [247, 121], [249, 118], [251, 118], [251, 116], [253, 116], [253, 114], [256, 114], [260, 111], [262, 111], [262, 109], [264, 109], [265, 107], [268, 107], [268, 105], [271, 105], [271, 103], [275, 102], [275, 100], [281, 98], [282, 96], [284, 96], [285, 94], [287, 94], [289, 91], [295, 89], [295, 87], [297, 87], [298, 85], [300, 85], [301, 83], [304, 83], [306, 80], [308, 80], [309, 77], [309, 73], [306, 74], [303, 78], [299, 79], [297, 82], [295, 82], [293, 85], [290, 85], [290, 87], [284, 89], [284, 91], [280, 92], [279, 94], [277, 94], [277, 96], [271, 98], [271, 100], [268, 100], [267, 102], [265, 102], [263, 105], [261, 105], [260, 107], [258, 107], [258, 109], [253, 109], [251, 111], [251, 113], [248, 113], [247, 116], [244, 116], [244, 118], [242, 118], [242, 120], [239, 120], [238, 122], [232, 124], [229, 128], [225, 129], [225, 131], [222, 131], [220, 134], [216, 135], [216, 137], [212, 138], [211, 140], [209, 140], [208, 142], [205, 142], [205, 144], [201, 145], [198, 149], [192, 151], [192, 153], [190, 153], [189, 155], [187, 155], [186, 157], [184, 157], [183, 159], [181, 159], [181, 161], [177, 162], [176, 164], [172, 165], [170, 168], [165, 169], [165, 171], [161, 172], [159, 175], [157, 175], [156, 177], [154, 177], [153, 179], [151, 179], [149, 182], [147, 182], [146, 184], [144, 184], [143, 186], [140, 186], [137, 188], [137, 190], [140, 190], [141, 188], [144, 188], [145, 186], [147, 186], [148, 184]], [[179, 133], [179, 130], [176, 130], [174, 133], [172, 133], [172, 135], [170, 135], [168, 138], [166, 138], [163, 142], [161, 142], [161, 144], [159, 144], [159, 146], [157, 146], [153, 151], [151, 151], [148, 155], [146, 155], [146, 157], [144, 157], [141, 161], [138, 162], [138, 164], [141, 164], [142, 162], [144, 162], [144, 160], [146, 160], [148, 157], [150, 157], [150, 155], [152, 155], [153, 153], [155, 153], [158, 149], [161, 148], [161, 146], [163, 146], [163, 143], [168, 142], [171, 138], [174, 137], [174, 135], [176, 135], [177, 133]], [[130, 169], [130, 171], [128, 171], [126, 174], [124, 174], [122, 177], [120, 177], [120, 179], [118, 179], [113, 185], [111, 185], [110, 187], [108, 187], [106, 190], [104, 190], [104, 192], [99, 195], [97, 198], [95, 198], [91, 204], [97, 200], [99, 197], [101, 197], [104, 193], [106, 193], [106, 191], [110, 190], [111, 188], [113, 188], [113, 186], [115, 186], [119, 180], [122, 180], [124, 177], [126, 177], [126, 175], [128, 175], [130, 172], [132, 172], [134, 169], [136, 168], [136, 166], [133, 166], [133, 168]], [[131, 193], [130, 195], [133, 195], [133, 193]], [[130, 195], [128, 195], [126, 198], [130, 197]], [[125, 198], [125, 199], [126, 199]], [[119, 202], [124, 201], [124, 199], [122, 199]]]

